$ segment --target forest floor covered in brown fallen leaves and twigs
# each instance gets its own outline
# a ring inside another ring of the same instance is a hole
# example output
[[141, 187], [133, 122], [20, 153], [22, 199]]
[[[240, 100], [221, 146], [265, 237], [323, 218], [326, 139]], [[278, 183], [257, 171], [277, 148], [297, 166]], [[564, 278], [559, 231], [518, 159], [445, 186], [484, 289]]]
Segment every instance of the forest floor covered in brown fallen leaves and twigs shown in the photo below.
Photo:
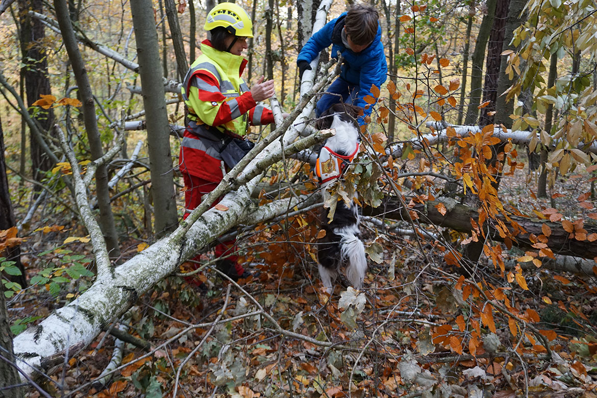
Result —
[[[536, 174], [525, 167], [504, 178], [502, 200], [524, 214], [555, 205], [569, 220], [595, 212], [582, 204], [593, 203], [584, 169], [558, 178], [545, 200], [531, 193]], [[26, 211], [23, 198], [16, 200], [17, 219]], [[16, 332], [72, 300], [92, 280], [73, 271], [75, 264], [90, 264], [90, 245], [84, 239], [63, 243], [86, 233], [64, 217], [66, 211], [54, 219], [54, 211], [39, 214], [30, 225], [48, 228], [30, 227], [23, 245], [23, 263], [37, 284], [8, 301]], [[244, 281], [247, 294], [232, 287], [225, 311], [228, 282], [213, 271], [201, 277], [207, 292], [171, 276], [141, 297], [130, 312], [130, 334], [154, 348], [182, 334], [137, 362], [146, 351], [125, 344], [122, 362], [128, 366], [105, 389], [90, 383], [112, 356], [114, 340], [104, 333], [43, 387], [51, 396], [171, 396], [177, 370], [192, 354], [180, 372], [179, 396], [597, 398], [596, 276], [538, 268], [525, 271], [528, 290], [515, 289], [482, 258], [475, 282], [504, 288], [513, 306], [531, 318], [537, 314], [534, 325], [549, 339], [548, 351], [530, 329], [512, 329], [504, 313], [493, 314], [493, 328], [479, 326], [472, 309], [479, 306], [478, 295], [464, 298], [458, 269], [445, 266], [432, 242], [381, 233], [373, 224], [364, 224], [366, 243], [378, 243], [384, 252], [379, 264], [370, 261], [366, 288], [359, 293], [337, 286], [328, 297], [311, 244], [318, 234], [314, 221], [315, 214], [299, 215], [239, 237], [242, 260], [257, 276]], [[132, 256], [144, 242], [130, 236], [122, 243]], [[515, 260], [521, 253], [513, 249], [509, 256]], [[189, 328], [260, 307], [302, 337], [281, 335], [263, 316]], [[481, 318], [486, 307], [481, 304]]]

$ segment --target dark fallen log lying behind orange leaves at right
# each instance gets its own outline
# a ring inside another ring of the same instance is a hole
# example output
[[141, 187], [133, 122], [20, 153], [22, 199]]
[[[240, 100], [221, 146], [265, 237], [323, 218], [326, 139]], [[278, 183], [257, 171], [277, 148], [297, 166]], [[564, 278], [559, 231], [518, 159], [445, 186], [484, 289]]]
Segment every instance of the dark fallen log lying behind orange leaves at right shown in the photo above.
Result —
[[[443, 203], [446, 208], [446, 213], [443, 215], [435, 208], [439, 203]], [[385, 218], [393, 218], [395, 220], [409, 220], [409, 210], [417, 212], [419, 217], [418, 220], [421, 223], [433, 224], [438, 227], [447, 227], [464, 233], [472, 232], [473, 228], [470, 224], [471, 218], [475, 220], [475, 222], [478, 222], [479, 220], [479, 214], [476, 208], [461, 205], [460, 203], [454, 203], [453, 199], [448, 198], [417, 203], [412, 209], [406, 209], [401, 206], [401, 203], [396, 198], [386, 198], [377, 208], [364, 207], [363, 215], [373, 217], [383, 215]], [[519, 233], [510, 239], [508, 237], [502, 237], [498, 230], [491, 224], [491, 220], [488, 220], [485, 221], [484, 224], [485, 233], [488, 234], [490, 239], [498, 242], [506, 242], [509, 244], [508, 240], [510, 240], [512, 245], [518, 246], [519, 248], [537, 251], [537, 249], [533, 247], [533, 244], [537, 242], [537, 236], [543, 234], [541, 227], [547, 225], [551, 229], [551, 235], [547, 238], [546, 243], [554, 254], [589, 259], [597, 257], [597, 240], [589, 242], [588, 240], [570, 239], [570, 233], [564, 230], [561, 223], [536, 220], [516, 215], [510, 216], [510, 218], [518, 223], [525, 232]], [[509, 227], [510, 233], [512, 233], [513, 228], [505, 218], [500, 216], [500, 220]], [[597, 226], [595, 224], [585, 223], [584, 229], [587, 230], [587, 236], [591, 233], [597, 233]]]

